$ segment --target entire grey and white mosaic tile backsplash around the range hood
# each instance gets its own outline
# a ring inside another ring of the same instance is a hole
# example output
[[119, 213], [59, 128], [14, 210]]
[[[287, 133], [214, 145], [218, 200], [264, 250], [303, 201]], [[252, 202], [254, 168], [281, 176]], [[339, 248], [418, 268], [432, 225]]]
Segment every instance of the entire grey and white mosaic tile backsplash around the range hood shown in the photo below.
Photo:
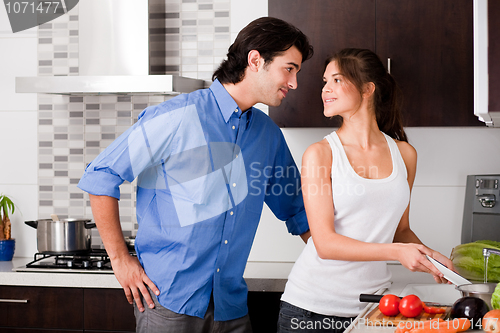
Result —
[[[210, 80], [230, 45], [230, 0], [149, 0], [150, 74]], [[38, 75], [78, 75], [78, 6], [38, 29]], [[137, 120], [172, 96], [38, 95], [39, 218], [91, 218], [77, 188], [88, 163]], [[135, 182], [121, 186], [120, 220], [135, 236]], [[102, 248], [96, 229], [92, 246]]]

